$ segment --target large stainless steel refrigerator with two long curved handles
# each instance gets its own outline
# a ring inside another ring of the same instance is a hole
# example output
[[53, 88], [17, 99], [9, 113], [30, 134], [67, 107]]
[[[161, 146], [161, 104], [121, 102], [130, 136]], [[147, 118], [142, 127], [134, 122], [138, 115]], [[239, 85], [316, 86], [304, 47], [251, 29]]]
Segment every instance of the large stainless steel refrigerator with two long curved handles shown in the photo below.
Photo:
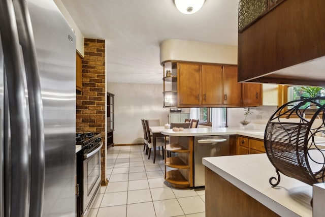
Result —
[[0, 216], [75, 216], [75, 35], [52, 0], [1, 0], [0, 37]]

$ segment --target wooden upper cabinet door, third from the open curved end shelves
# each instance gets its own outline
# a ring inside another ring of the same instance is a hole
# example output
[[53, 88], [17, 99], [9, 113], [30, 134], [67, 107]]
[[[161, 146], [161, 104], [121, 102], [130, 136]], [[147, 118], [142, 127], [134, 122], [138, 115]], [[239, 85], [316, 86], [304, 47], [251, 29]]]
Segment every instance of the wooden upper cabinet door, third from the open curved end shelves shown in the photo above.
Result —
[[223, 66], [223, 104], [240, 107], [242, 85], [237, 82], [237, 66]]

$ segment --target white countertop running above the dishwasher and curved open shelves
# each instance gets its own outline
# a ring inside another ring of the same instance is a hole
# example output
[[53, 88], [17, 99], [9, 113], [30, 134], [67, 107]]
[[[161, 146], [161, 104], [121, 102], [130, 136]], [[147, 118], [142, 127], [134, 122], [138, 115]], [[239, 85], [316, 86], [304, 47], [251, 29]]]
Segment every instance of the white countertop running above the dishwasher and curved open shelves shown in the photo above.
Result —
[[264, 130], [241, 130], [239, 128], [185, 128], [183, 131], [164, 129], [161, 134], [167, 136], [216, 136], [216, 135], [241, 135], [264, 139]]

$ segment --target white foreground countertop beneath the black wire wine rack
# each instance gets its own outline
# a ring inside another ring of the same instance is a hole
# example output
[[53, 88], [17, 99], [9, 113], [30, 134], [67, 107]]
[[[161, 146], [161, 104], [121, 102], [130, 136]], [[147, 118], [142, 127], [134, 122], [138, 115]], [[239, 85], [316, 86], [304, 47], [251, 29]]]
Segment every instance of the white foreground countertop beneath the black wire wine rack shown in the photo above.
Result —
[[312, 216], [312, 187], [280, 173], [272, 188], [269, 179], [277, 175], [265, 153], [203, 158], [203, 164], [281, 216]]

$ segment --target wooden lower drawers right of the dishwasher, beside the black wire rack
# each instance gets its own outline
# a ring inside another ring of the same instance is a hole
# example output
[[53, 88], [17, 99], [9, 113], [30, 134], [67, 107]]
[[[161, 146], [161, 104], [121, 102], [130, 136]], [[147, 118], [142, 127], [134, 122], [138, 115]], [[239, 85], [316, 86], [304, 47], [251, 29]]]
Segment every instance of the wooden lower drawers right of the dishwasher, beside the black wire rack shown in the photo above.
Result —
[[237, 154], [265, 153], [264, 141], [238, 136]]

